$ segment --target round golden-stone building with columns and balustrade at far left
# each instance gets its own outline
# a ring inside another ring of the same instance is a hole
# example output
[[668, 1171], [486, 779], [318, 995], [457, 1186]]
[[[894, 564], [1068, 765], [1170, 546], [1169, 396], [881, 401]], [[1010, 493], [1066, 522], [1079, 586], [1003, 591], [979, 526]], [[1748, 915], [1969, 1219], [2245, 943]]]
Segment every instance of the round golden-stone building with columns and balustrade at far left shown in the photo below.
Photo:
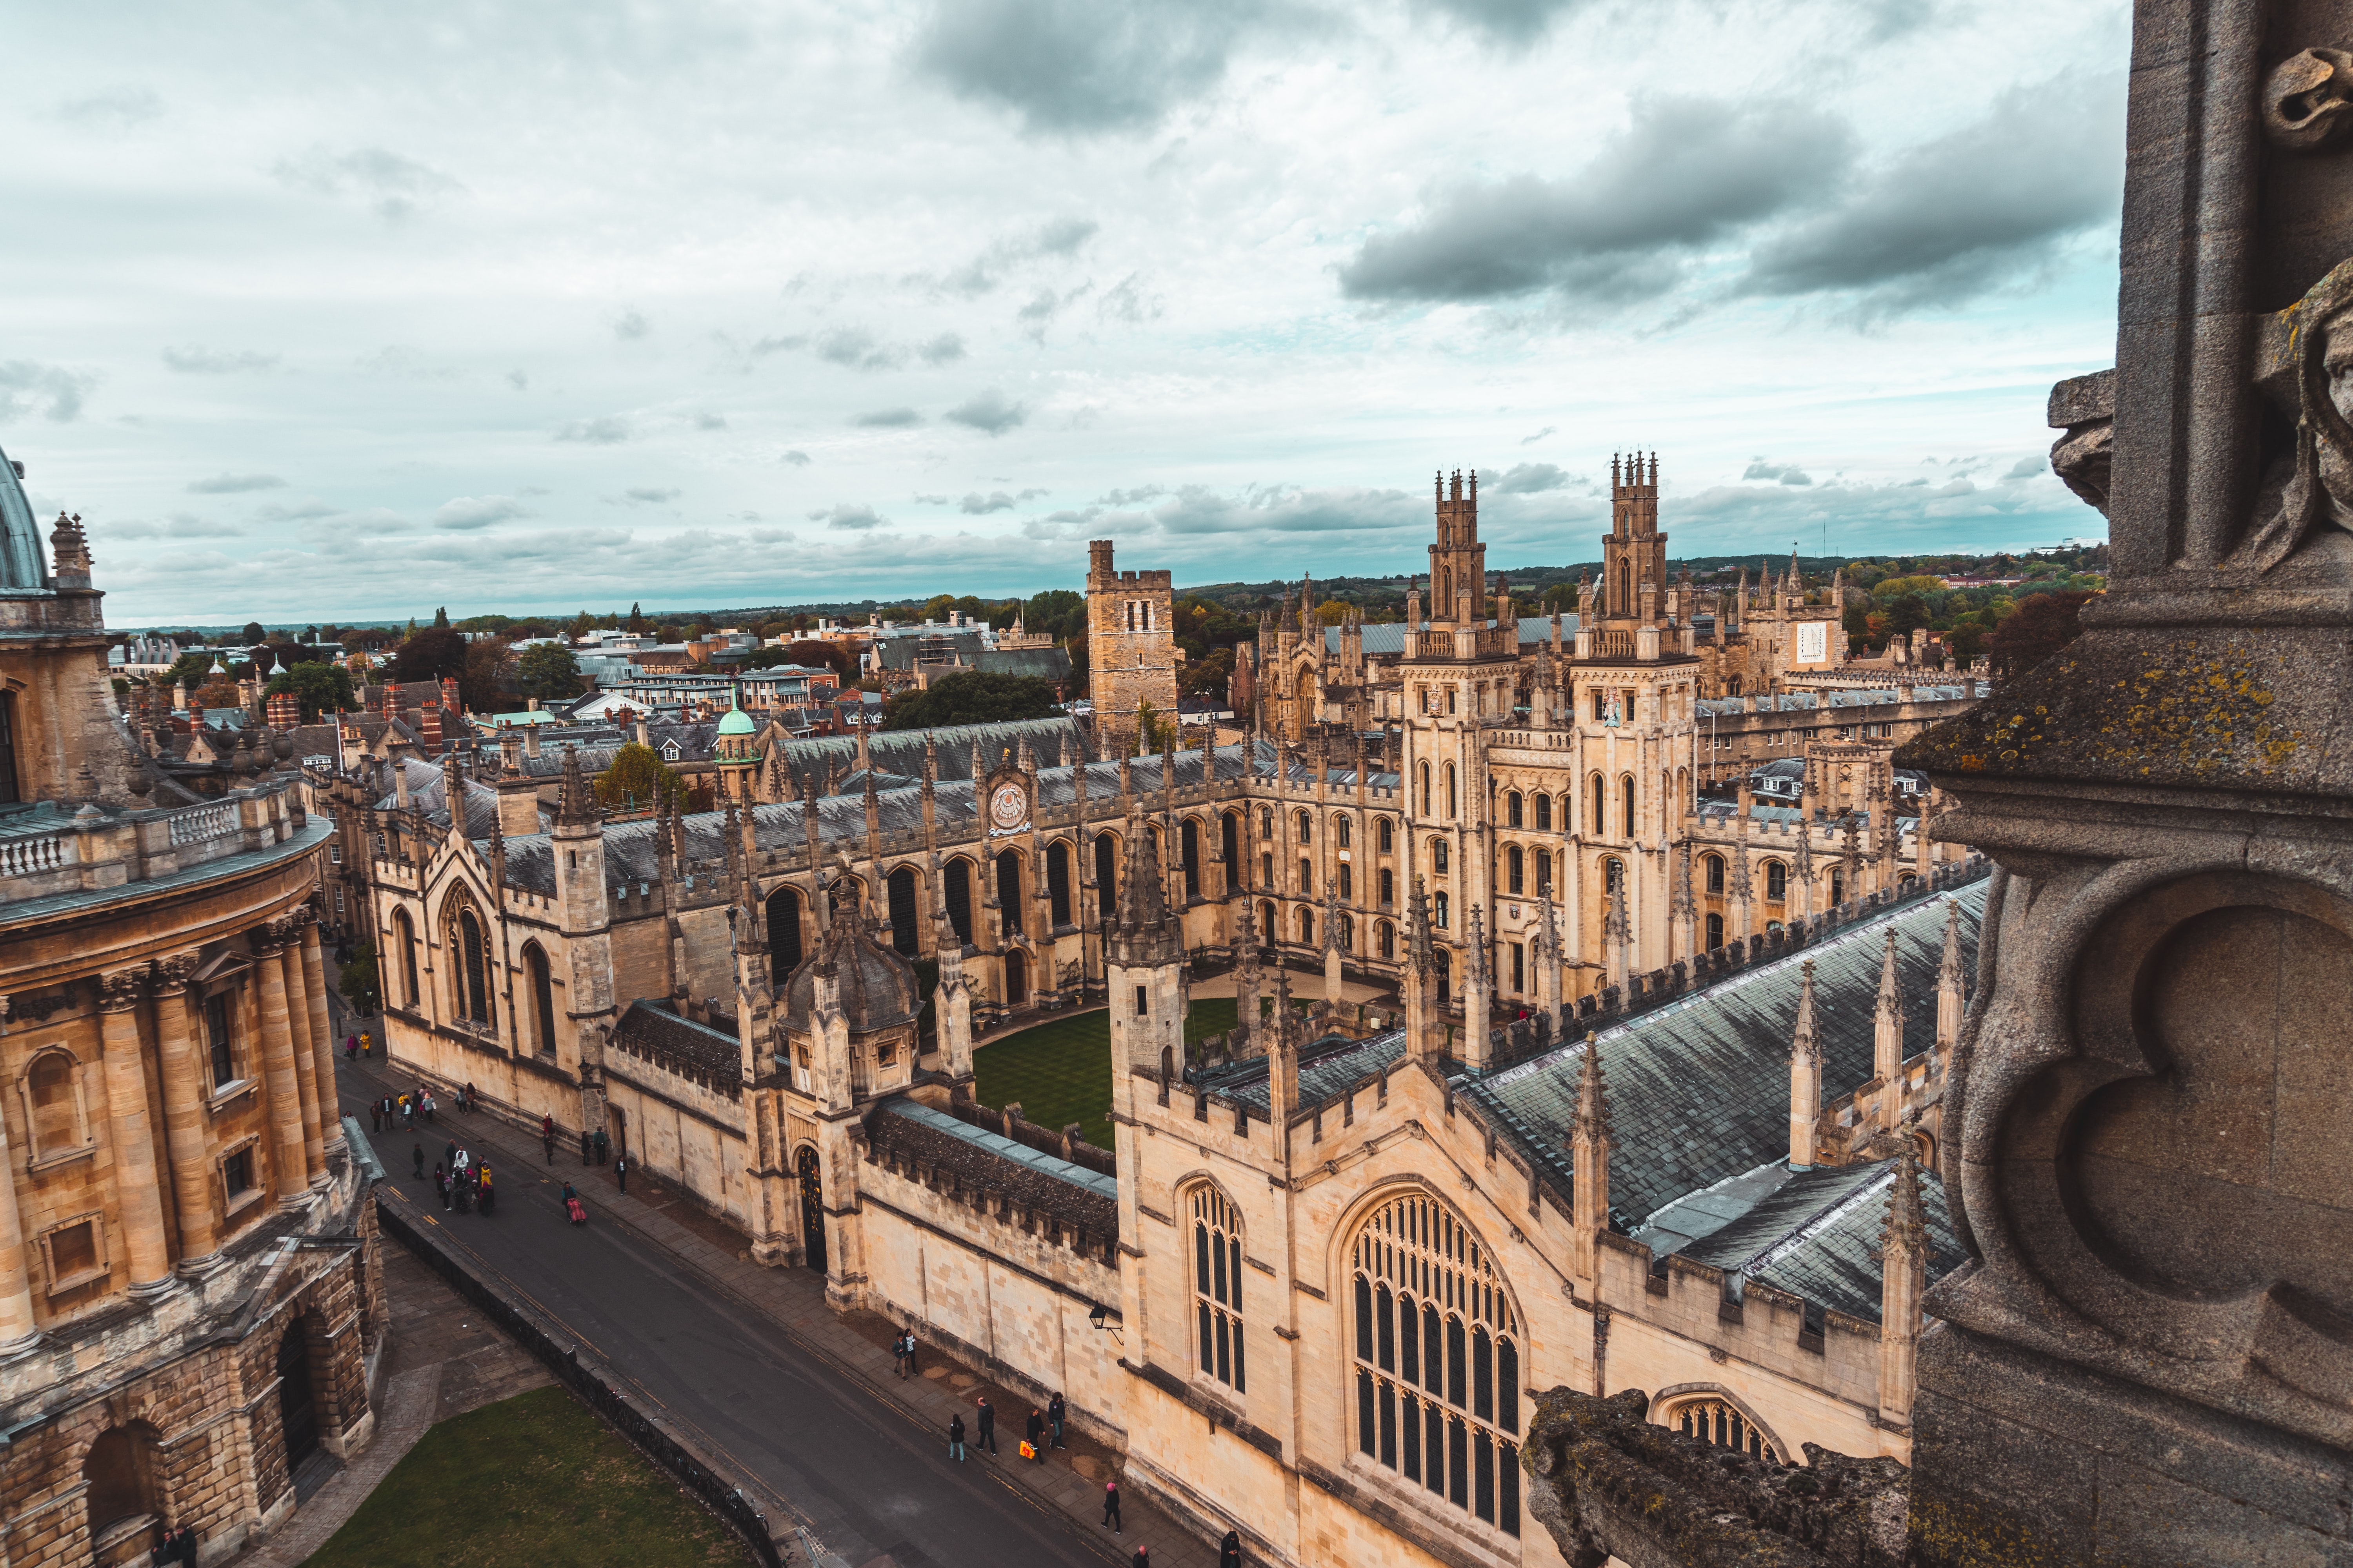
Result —
[[374, 1429], [374, 1208], [334, 1107], [289, 771], [174, 799], [80, 524], [0, 473], [0, 1561], [202, 1561]]

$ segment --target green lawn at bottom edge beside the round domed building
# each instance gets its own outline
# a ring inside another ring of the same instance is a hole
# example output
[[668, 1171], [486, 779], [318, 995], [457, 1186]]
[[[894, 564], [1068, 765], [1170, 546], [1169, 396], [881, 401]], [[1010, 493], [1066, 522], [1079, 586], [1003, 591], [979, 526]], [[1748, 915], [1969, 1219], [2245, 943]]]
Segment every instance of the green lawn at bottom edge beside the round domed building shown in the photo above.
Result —
[[751, 1561], [562, 1387], [452, 1415], [306, 1568], [706, 1568]]

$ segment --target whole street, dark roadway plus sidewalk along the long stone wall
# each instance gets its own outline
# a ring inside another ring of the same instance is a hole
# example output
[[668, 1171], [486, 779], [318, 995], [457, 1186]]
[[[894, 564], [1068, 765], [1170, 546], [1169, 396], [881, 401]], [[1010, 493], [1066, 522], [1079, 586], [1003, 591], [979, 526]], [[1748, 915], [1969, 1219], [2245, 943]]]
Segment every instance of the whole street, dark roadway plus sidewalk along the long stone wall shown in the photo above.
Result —
[[[341, 1060], [336, 1086], [362, 1126], [367, 1103], [393, 1088]], [[1026, 1403], [998, 1399], [1007, 1460], [948, 1460], [948, 1410], [965, 1408], [972, 1425], [969, 1373], [932, 1356], [932, 1378], [894, 1380], [885, 1347], [826, 1309], [814, 1274], [739, 1260], [713, 1222], [682, 1225], [645, 1201], [654, 1182], [640, 1178], [638, 1194], [619, 1197], [609, 1171], [584, 1171], [562, 1147], [551, 1168], [536, 1138], [489, 1117], [442, 1110], [419, 1138], [428, 1171], [452, 1138], [489, 1157], [494, 1218], [440, 1213], [431, 1180], [409, 1178], [409, 1133], [376, 1138], [391, 1171], [381, 1201], [442, 1225], [487, 1276], [602, 1356], [682, 1436], [755, 1476], [779, 1535], [784, 1521], [800, 1523], [852, 1568], [1104, 1568], [1125, 1566], [1136, 1544], [1165, 1568], [1214, 1561], [1141, 1502], [1127, 1507], [1127, 1535], [1101, 1530], [1099, 1476], [1113, 1462], [1101, 1450], [1080, 1446], [1045, 1467], [1012, 1460]], [[562, 1220], [562, 1180], [581, 1187], [591, 1225]]]

